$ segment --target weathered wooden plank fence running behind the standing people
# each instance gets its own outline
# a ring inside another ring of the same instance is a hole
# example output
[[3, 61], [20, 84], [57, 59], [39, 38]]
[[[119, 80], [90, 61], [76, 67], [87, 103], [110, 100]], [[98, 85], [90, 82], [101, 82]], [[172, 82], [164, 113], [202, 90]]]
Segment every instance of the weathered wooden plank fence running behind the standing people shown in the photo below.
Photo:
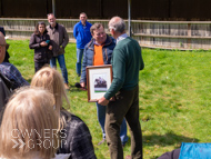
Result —
[[[6, 34], [11, 39], [29, 39], [38, 21], [48, 23], [47, 19], [0, 18], [0, 26], [4, 27]], [[76, 42], [73, 38], [73, 26], [79, 20], [57, 19], [57, 21], [67, 28], [70, 41]], [[89, 20], [89, 22], [103, 23], [108, 32], [108, 20]], [[132, 37], [139, 41], [141, 47], [181, 50], [211, 49], [210, 21], [132, 20], [131, 28]]]

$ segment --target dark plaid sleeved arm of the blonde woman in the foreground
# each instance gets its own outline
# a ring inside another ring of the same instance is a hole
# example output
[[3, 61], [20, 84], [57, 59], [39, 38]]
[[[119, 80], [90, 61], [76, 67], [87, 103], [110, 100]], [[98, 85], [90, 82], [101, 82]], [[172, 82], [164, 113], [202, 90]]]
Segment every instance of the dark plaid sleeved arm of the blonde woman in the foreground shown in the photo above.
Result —
[[87, 125], [81, 121], [72, 129], [72, 141], [70, 142], [70, 152], [73, 159], [96, 159], [92, 138]]

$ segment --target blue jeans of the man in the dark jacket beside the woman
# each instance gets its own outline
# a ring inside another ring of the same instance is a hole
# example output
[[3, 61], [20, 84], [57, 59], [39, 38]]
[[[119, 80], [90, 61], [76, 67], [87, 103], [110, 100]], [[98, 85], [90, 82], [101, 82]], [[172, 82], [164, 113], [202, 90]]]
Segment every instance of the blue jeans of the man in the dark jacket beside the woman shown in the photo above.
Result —
[[67, 68], [66, 68], [64, 56], [60, 54], [60, 56], [57, 56], [57, 57], [52, 57], [52, 59], [50, 60], [51, 68], [57, 68], [57, 61], [56, 60], [58, 60], [58, 62], [59, 62], [64, 83], [68, 83], [68, 71], [67, 71]]

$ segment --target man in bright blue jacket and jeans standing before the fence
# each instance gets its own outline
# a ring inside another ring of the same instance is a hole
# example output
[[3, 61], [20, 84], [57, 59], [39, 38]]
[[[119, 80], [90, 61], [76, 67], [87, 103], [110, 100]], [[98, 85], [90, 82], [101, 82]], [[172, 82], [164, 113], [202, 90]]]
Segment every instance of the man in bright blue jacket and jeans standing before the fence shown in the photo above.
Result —
[[73, 36], [77, 39], [77, 74], [81, 76], [81, 59], [83, 56], [84, 46], [91, 40], [91, 23], [87, 21], [87, 14], [80, 13], [80, 21], [74, 24]]

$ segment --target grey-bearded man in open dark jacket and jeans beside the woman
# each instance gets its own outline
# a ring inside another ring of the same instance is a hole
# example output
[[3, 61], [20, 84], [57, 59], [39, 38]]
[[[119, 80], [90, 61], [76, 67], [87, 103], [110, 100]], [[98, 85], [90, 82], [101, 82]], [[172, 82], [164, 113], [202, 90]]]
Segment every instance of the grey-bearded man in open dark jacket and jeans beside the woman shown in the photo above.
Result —
[[69, 37], [66, 31], [66, 28], [62, 24], [56, 22], [56, 17], [53, 13], [48, 14], [48, 21], [50, 26], [47, 27], [47, 30], [51, 39], [52, 52], [53, 52], [53, 57], [50, 60], [50, 66], [52, 68], [56, 68], [57, 67], [56, 60], [58, 60], [64, 79], [64, 87], [66, 89], [69, 89], [68, 71], [66, 68], [66, 60], [64, 60], [64, 48], [69, 42]]

